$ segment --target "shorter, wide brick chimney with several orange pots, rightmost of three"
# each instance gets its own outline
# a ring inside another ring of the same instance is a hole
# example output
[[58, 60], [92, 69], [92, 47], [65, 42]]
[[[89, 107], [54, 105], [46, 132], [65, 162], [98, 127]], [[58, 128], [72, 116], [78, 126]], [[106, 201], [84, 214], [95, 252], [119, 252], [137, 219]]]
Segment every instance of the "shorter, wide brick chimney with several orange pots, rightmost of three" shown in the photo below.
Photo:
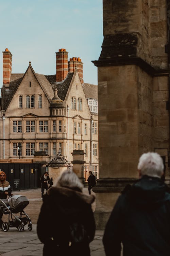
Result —
[[68, 72], [74, 72], [75, 68], [77, 68], [80, 76], [80, 80], [83, 84], [83, 62], [79, 57], [78, 58], [73, 57], [68, 62]]

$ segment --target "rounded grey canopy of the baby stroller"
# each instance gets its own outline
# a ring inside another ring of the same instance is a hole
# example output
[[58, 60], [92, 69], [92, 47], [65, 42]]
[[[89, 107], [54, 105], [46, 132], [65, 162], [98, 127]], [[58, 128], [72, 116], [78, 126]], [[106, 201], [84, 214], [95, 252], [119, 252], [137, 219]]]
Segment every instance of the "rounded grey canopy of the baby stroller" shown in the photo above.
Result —
[[13, 210], [23, 210], [29, 204], [29, 201], [25, 196], [15, 195], [8, 199], [8, 203]]

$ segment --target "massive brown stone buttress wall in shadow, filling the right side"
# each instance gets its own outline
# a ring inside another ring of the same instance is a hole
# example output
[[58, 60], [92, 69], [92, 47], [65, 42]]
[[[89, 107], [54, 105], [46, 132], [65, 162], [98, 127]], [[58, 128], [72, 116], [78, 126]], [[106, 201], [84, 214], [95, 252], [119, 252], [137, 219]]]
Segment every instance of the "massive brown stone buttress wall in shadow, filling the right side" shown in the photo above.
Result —
[[103, 0], [98, 67], [99, 180], [97, 228], [102, 229], [144, 152], [165, 159], [169, 183], [170, 1]]

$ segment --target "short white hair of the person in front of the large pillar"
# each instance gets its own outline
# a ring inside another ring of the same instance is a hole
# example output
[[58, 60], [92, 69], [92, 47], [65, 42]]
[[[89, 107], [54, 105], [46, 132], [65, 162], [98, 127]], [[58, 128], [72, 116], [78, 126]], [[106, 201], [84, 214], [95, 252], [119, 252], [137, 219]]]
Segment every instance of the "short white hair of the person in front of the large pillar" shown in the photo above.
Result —
[[141, 176], [148, 175], [160, 178], [164, 173], [163, 159], [157, 153], [145, 153], [139, 158], [138, 170], [140, 170]]

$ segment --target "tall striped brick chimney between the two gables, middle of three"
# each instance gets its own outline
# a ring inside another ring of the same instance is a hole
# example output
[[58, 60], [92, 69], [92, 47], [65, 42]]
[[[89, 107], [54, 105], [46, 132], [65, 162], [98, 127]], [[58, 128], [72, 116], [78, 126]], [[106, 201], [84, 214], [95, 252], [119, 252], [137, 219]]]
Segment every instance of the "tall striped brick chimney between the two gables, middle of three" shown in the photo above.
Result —
[[59, 49], [56, 53], [56, 82], [62, 82], [68, 74], [68, 52]]

